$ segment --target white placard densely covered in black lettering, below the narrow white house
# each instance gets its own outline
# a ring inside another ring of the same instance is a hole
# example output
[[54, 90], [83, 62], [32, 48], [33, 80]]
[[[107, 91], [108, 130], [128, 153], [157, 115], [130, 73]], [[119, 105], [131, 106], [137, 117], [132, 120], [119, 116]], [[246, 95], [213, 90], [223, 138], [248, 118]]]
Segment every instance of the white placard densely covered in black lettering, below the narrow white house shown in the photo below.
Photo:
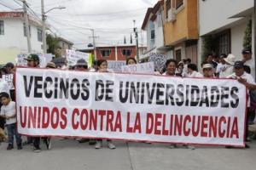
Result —
[[149, 54], [148, 61], [154, 62], [154, 69], [156, 71], [163, 71], [166, 65], [167, 56], [163, 54], [151, 53]]

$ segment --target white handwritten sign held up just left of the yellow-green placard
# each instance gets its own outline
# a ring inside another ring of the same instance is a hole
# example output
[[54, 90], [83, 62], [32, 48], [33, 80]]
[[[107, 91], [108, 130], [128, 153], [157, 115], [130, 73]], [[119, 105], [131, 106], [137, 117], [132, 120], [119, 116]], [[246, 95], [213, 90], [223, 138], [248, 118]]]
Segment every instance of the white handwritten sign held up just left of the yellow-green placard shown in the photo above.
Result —
[[86, 62], [89, 61], [90, 54], [82, 53], [75, 50], [69, 50], [69, 49], [67, 49], [66, 53], [67, 53], [67, 65], [69, 66], [76, 65], [79, 59], [84, 59]]

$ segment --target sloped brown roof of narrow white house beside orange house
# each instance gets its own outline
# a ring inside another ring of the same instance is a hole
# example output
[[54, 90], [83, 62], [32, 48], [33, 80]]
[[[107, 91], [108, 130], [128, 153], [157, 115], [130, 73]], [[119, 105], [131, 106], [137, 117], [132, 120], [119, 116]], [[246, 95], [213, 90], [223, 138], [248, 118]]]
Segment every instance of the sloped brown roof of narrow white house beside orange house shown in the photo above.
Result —
[[154, 21], [157, 18], [157, 12], [160, 10], [160, 7], [163, 5], [164, 5], [164, 0], [160, 0], [154, 5], [154, 8], [148, 8], [145, 18], [143, 20], [143, 26], [142, 26], [143, 30], [145, 30], [145, 27], [147, 26], [149, 19]]

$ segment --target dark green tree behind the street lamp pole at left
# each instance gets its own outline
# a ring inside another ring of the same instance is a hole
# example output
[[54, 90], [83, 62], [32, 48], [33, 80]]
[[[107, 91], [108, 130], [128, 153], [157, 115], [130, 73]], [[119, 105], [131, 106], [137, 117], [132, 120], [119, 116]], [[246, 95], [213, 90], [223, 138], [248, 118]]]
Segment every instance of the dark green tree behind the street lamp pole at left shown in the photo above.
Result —
[[47, 34], [46, 36], [46, 43], [48, 45], [47, 53], [48, 54], [55, 54], [55, 57], [59, 57], [59, 54], [56, 54], [55, 51], [59, 46], [60, 39], [56, 36]]

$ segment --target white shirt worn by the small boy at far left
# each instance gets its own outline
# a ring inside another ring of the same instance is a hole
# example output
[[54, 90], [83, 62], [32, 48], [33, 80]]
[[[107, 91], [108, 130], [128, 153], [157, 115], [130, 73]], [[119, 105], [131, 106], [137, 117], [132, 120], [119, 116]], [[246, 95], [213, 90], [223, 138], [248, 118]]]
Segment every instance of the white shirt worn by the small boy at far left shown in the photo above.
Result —
[[[9, 105], [3, 105], [1, 107], [1, 112], [0, 115], [1, 116], [14, 116], [16, 114], [16, 110], [15, 110], [15, 102], [14, 101], [10, 101]], [[6, 119], [6, 124], [13, 124], [17, 122], [16, 121], [16, 117], [15, 118], [11, 118], [9, 120]]]

